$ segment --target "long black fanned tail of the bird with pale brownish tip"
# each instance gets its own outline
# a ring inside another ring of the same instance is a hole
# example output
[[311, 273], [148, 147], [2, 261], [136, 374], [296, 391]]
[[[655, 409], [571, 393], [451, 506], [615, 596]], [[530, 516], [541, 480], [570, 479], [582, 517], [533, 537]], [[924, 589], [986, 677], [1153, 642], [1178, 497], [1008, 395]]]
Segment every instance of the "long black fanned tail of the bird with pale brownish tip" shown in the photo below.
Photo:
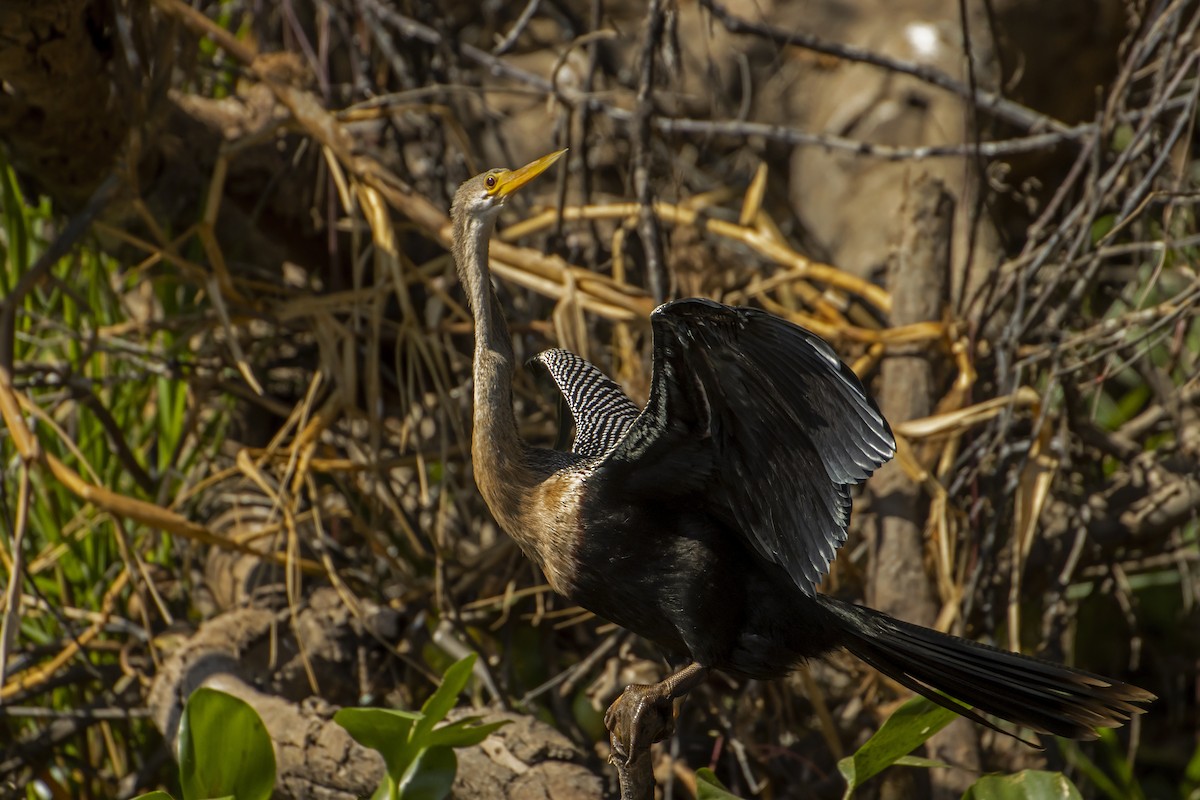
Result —
[[841, 620], [847, 650], [902, 686], [992, 730], [1012, 735], [983, 714], [1038, 733], [1094, 739], [1097, 728], [1115, 728], [1142, 712], [1139, 704], [1154, 699], [1136, 686], [1081, 669], [997, 650], [830, 597], [822, 596], [822, 602]]

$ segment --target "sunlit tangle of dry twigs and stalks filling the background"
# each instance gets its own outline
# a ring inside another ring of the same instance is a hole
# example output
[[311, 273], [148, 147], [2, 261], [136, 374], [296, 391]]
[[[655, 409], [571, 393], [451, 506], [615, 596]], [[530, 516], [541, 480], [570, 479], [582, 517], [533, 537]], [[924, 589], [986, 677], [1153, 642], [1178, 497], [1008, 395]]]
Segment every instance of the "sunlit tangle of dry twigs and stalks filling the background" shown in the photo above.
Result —
[[[641, 402], [664, 299], [818, 332], [900, 440], [826, 590], [1159, 697], [1098, 742], [955, 726], [930, 756], [1200, 796], [1196, 2], [41, 0], [0, 25], [4, 794], [170, 787], [218, 673], [281, 796], [364, 796], [382, 762], [331, 709], [419, 708], [472, 651], [475, 704], [516, 722], [460, 752], [455, 796], [613, 788], [602, 709], [666, 663], [484, 507], [448, 252], [461, 181], [570, 148], [492, 246], [518, 357], [570, 348]], [[553, 443], [548, 387], [516, 398]], [[850, 660], [715, 678], [660, 784], [840, 796], [905, 698]]]

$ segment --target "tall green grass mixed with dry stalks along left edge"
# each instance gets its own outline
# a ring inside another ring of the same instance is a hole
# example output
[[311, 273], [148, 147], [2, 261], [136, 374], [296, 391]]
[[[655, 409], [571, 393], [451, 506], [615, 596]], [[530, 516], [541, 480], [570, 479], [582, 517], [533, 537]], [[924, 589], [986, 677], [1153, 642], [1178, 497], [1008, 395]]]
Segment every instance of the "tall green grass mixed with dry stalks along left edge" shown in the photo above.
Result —
[[[190, 344], [168, 351], [156, 344], [156, 331], [184, 324], [138, 302], [154, 276], [127, 269], [86, 239], [68, 255], [43, 261], [60, 231], [49, 201], [23, 191], [0, 156], [0, 307], [7, 325], [0, 338], [11, 347], [2, 391], [10, 408], [22, 409], [0, 421], [0, 627], [8, 644], [0, 704], [38, 709], [36, 716], [4, 715], [5, 742], [44, 734], [53, 718], [44, 714], [144, 705], [137, 684], [115, 680], [130, 652], [122, 644], [138, 642], [131, 646], [140, 651], [151, 631], [182, 610], [176, 601], [187, 578], [175, 584], [175, 596], [160, 591], [162, 583], [148, 589], [150, 575], [178, 565], [178, 551], [169, 536], [110, 509], [125, 499], [157, 504], [178, 497], [182, 476], [205, 452], [200, 447], [211, 452], [218, 438], [200, 439], [175, 419], [172, 441], [182, 444], [169, 461], [154, 458], [166, 423], [148, 409], [164, 386], [187, 395], [179, 362]], [[204, 422], [221, 427], [208, 432], [220, 433], [226, 421], [211, 416]], [[10, 429], [18, 419], [23, 423]], [[30, 452], [20, 451], [20, 439], [35, 445]], [[97, 504], [97, 495], [108, 501]], [[149, 720], [137, 715], [90, 721], [80, 735], [50, 748], [46, 765], [22, 764], [5, 777], [36, 781], [42, 796], [113, 796], [130, 765], [144, 763], [160, 742]]]

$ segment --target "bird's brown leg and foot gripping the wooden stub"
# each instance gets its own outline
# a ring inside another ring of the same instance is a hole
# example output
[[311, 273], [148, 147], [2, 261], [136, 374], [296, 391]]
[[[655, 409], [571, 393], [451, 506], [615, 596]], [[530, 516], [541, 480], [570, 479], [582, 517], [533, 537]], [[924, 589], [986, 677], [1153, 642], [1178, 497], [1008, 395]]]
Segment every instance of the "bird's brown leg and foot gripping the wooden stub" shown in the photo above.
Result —
[[630, 684], [604, 716], [613, 758], [629, 760], [674, 732], [674, 700], [708, 676], [708, 667], [691, 663], [658, 684]]

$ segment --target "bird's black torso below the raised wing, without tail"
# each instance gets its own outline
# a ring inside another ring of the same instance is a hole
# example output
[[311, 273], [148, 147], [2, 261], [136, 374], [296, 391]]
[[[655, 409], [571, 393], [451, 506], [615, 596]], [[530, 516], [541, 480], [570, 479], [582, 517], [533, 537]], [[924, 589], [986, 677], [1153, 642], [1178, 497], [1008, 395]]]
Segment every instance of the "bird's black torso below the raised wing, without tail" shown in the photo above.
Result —
[[751, 678], [779, 678], [836, 646], [812, 599], [786, 571], [697, 511], [701, 491], [673, 501], [614, 504], [596, 476], [581, 498], [570, 599], [676, 657]]

